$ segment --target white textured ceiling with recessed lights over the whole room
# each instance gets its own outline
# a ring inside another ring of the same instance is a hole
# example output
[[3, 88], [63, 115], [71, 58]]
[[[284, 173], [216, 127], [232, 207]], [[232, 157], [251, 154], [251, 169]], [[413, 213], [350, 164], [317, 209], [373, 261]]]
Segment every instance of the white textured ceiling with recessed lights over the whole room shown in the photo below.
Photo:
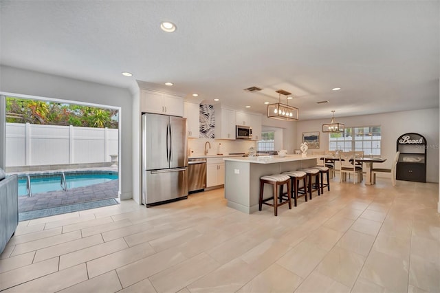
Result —
[[[127, 88], [170, 81], [261, 113], [285, 89], [300, 120], [439, 107], [439, 1], [1, 0], [0, 10], [2, 65]], [[165, 20], [174, 33], [159, 29]], [[243, 91], [254, 85], [263, 91]]]

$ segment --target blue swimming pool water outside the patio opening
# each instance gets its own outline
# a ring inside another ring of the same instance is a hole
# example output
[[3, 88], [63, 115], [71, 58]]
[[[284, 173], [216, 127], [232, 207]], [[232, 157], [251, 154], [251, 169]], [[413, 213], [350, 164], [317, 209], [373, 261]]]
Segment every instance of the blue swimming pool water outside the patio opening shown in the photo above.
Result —
[[[118, 173], [72, 173], [65, 174], [67, 190], [118, 179]], [[61, 191], [61, 174], [30, 177], [32, 194]], [[19, 196], [28, 195], [26, 178], [19, 178]]]

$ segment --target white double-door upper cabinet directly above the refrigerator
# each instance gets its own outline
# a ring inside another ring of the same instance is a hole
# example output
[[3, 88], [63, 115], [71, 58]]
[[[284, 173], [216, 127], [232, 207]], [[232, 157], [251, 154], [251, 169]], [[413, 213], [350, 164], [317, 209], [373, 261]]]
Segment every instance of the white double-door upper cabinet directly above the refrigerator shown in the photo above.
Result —
[[184, 116], [184, 98], [159, 91], [140, 90], [140, 110], [147, 113]]

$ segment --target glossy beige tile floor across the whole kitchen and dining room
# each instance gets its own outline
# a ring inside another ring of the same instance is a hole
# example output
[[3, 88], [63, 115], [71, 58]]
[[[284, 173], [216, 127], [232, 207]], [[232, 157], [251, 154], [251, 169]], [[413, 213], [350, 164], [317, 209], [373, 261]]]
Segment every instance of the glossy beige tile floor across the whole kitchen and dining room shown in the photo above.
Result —
[[22, 221], [4, 292], [440, 292], [438, 184], [331, 182], [246, 215], [223, 189]]

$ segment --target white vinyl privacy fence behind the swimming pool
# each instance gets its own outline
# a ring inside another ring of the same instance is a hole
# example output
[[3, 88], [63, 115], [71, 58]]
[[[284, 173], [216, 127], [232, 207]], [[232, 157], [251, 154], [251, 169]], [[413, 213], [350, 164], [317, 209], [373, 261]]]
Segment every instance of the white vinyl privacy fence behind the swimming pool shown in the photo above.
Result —
[[110, 162], [118, 129], [6, 123], [6, 166]]

